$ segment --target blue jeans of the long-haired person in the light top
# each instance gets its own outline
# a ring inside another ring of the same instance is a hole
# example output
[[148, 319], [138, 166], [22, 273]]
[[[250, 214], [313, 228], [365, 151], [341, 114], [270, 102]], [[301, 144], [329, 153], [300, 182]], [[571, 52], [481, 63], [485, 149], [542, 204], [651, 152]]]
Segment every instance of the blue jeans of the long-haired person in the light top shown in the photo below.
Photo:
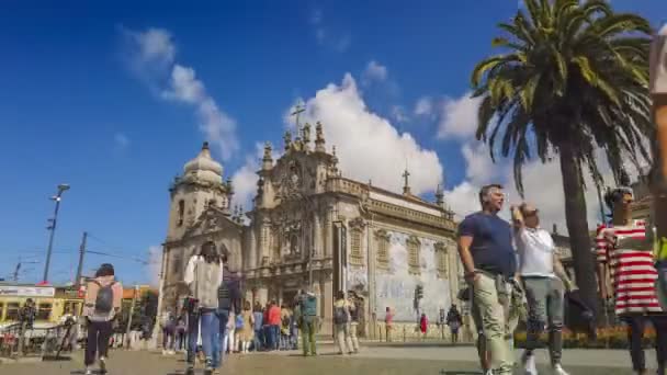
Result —
[[190, 314], [188, 318], [188, 363], [194, 365], [194, 354], [196, 353], [196, 339], [202, 328], [202, 350], [206, 356], [207, 365], [213, 365], [219, 354], [219, 320], [212, 310], [202, 310], [199, 314]]

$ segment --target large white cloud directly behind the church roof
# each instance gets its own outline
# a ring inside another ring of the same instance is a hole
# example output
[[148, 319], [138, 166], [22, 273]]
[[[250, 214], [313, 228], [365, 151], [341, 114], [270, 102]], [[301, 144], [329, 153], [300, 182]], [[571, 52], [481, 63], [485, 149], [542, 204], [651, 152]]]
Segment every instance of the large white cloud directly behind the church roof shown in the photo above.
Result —
[[[433, 191], [442, 166], [433, 150], [422, 149], [409, 133], [371, 112], [350, 73], [341, 84], [329, 83], [306, 101], [305, 121], [320, 121], [328, 147], [336, 145], [343, 174], [400, 192], [406, 161], [415, 194]], [[383, 168], [377, 168], [383, 166]]]

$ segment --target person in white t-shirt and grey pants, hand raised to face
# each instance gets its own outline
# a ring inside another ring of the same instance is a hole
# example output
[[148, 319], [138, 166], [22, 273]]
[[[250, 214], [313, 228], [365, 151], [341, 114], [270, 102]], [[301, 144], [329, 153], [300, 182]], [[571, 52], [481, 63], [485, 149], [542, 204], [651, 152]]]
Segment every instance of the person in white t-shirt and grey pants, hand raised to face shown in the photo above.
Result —
[[533, 351], [549, 327], [549, 353], [553, 374], [567, 375], [561, 365], [563, 350], [564, 287], [570, 282], [556, 254], [551, 234], [540, 228], [538, 209], [527, 203], [512, 207], [519, 274], [528, 299], [528, 341], [522, 356], [525, 374], [538, 375]]

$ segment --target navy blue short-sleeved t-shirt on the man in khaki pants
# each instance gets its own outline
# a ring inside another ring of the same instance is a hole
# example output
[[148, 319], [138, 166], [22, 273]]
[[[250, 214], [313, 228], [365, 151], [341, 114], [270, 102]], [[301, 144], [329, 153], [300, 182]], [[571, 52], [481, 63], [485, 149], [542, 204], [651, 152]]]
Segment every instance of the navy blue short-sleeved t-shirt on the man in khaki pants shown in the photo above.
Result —
[[512, 276], [517, 270], [517, 254], [512, 247], [509, 223], [498, 215], [483, 212], [468, 215], [459, 225], [459, 236], [471, 236], [471, 254], [475, 270]]

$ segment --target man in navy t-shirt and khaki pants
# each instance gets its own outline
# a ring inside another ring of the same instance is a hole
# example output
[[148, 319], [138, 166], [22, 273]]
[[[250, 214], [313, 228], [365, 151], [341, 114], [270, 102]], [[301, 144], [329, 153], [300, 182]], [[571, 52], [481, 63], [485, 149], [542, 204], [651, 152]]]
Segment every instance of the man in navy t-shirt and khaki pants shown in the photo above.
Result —
[[[468, 215], [459, 226], [459, 254], [465, 280], [473, 287], [473, 306], [483, 322], [486, 351], [494, 374], [512, 373], [511, 332], [507, 332], [510, 281], [517, 269], [510, 225], [498, 217], [505, 194], [491, 184], [479, 191], [482, 211]], [[490, 373], [490, 368], [484, 368]]]

